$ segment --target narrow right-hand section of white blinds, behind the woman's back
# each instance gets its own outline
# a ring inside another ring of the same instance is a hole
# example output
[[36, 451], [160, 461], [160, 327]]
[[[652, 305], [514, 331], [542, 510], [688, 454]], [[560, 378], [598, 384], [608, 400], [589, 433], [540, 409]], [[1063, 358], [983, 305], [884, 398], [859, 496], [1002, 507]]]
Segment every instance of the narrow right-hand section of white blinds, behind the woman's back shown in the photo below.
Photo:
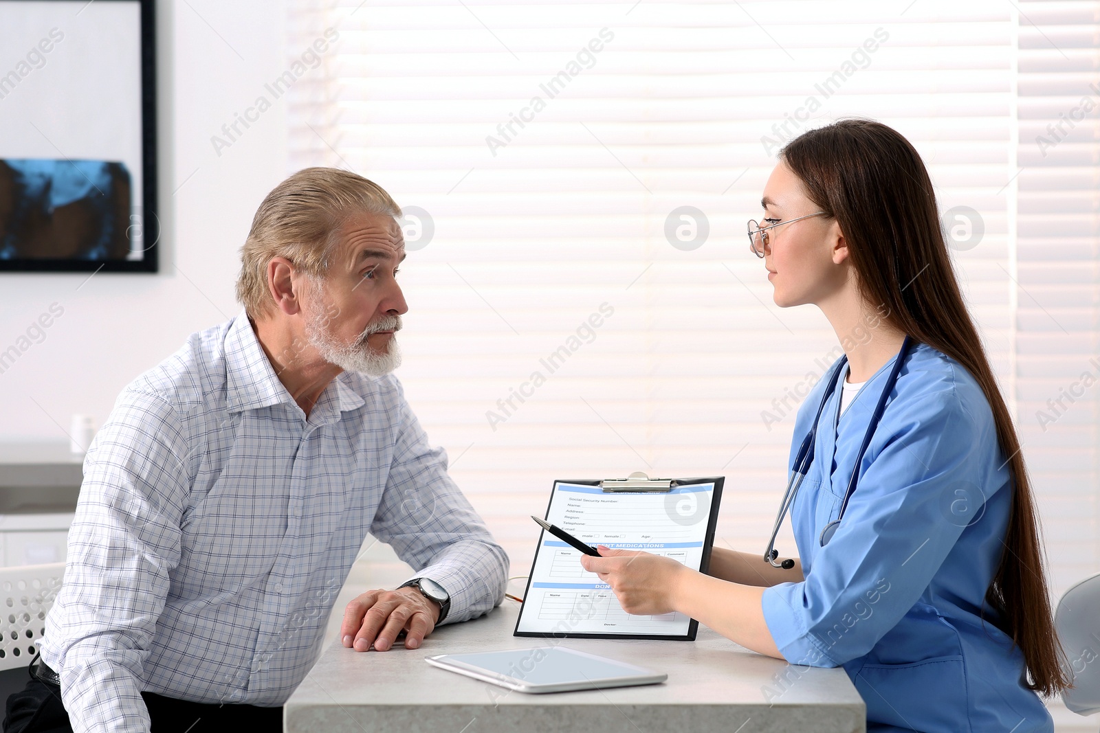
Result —
[[1019, 16], [1018, 421], [1060, 597], [1100, 566], [1100, 3]]

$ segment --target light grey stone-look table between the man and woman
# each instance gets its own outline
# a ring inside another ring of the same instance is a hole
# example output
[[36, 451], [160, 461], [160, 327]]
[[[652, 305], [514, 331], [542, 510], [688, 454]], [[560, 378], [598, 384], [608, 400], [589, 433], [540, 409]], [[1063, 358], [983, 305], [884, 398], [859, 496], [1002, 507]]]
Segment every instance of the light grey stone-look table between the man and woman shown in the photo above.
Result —
[[[866, 709], [843, 669], [799, 670], [700, 625], [694, 642], [512, 635], [518, 604], [438, 629], [419, 649], [333, 643], [290, 696], [290, 733], [853, 733]], [[661, 685], [524, 695], [430, 666], [436, 654], [561, 644], [668, 673]], [[778, 676], [778, 677], [777, 677]], [[777, 681], [782, 680], [782, 681]]]

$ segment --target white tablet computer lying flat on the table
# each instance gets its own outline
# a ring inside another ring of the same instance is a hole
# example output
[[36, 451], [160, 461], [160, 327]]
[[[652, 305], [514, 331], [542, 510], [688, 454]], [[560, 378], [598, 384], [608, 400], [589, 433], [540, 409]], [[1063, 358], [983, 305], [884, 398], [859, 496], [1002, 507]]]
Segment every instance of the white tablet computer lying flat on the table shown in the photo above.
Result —
[[440, 654], [425, 657], [425, 662], [517, 692], [532, 693], [656, 685], [669, 678], [652, 669], [561, 646]]

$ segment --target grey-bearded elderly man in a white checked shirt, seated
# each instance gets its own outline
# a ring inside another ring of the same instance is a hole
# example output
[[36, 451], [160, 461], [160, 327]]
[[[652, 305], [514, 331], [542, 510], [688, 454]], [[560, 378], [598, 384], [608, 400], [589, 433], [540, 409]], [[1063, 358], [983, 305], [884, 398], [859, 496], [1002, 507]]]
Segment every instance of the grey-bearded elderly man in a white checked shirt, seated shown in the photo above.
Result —
[[330, 168], [267, 196], [244, 312], [131, 384], [88, 452], [42, 681], [6, 729], [282, 730], [367, 532], [417, 571], [348, 606], [344, 646], [417, 648], [501, 602], [508, 558], [389, 375], [398, 215]]

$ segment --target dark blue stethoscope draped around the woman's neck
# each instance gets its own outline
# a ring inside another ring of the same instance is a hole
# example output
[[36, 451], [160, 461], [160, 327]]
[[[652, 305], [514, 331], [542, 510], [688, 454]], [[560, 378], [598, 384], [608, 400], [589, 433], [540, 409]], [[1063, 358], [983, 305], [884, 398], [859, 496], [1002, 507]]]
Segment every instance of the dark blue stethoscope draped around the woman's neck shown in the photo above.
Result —
[[[856, 456], [856, 464], [851, 468], [851, 478], [848, 479], [848, 490], [844, 495], [844, 503], [840, 504], [840, 514], [825, 525], [821, 534], [821, 545], [824, 547], [828, 544], [828, 541], [833, 538], [836, 534], [836, 530], [840, 526], [840, 520], [844, 518], [844, 511], [848, 508], [848, 500], [851, 499], [851, 495], [856, 491], [856, 485], [859, 482], [859, 464], [864, 460], [864, 454], [867, 453], [867, 446], [871, 444], [871, 436], [875, 435], [875, 429], [879, 426], [879, 421], [882, 419], [882, 413], [887, 409], [887, 398], [890, 396], [890, 391], [898, 384], [898, 373], [901, 371], [901, 366], [905, 362], [905, 355], [909, 354], [910, 347], [913, 345], [912, 340], [906, 335], [905, 340], [901, 343], [901, 351], [898, 352], [898, 358], [894, 359], [893, 368], [890, 369], [890, 376], [887, 377], [886, 387], [882, 388], [882, 393], [879, 395], [879, 403], [875, 407], [875, 412], [871, 414], [871, 421], [867, 425], [867, 432], [864, 434], [864, 444], [859, 448], [859, 455]], [[829, 375], [828, 386], [825, 388], [825, 395], [822, 397], [822, 403], [817, 406], [817, 415], [814, 418], [814, 425], [806, 433], [806, 436], [802, 438], [802, 445], [799, 447], [799, 453], [794, 458], [794, 467], [791, 469], [791, 477], [787, 481], [787, 491], [783, 493], [783, 502], [779, 507], [779, 515], [776, 517], [776, 525], [771, 530], [771, 540], [768, 541], [768, 549], [765, 551], [763, 558], [771, 564], [772, 567], [781, 567], [784, 570], [789, 570], [794, 567], [793, 559], [784, 559], [782, 563], [777, 563], [776, 558], [779, 557], [779, 552], [776, 549], [776, 535], [779, 534], [779, 527], [783, 523], [783, 518], [787, 517], [788, 510], [791, 504], [794, 503], [794, 497], [799, 493], [799, 487], [802, 486], [802, 479], [806, 477], [810, 471], [810, 466], [814, 463], [814, 444], [817, 442], [817, 422], [822, 418], [822, 412], [825, 410], [825, 403], [828, 402], [828, 398], [833, 396], [836, 391], [837, 378], [840, 375], [840, 370], [844, 369], [845, 365], [848, 363], [847, 355], [842, 356], [836, 363], [836, 368], [833, 369]]]

